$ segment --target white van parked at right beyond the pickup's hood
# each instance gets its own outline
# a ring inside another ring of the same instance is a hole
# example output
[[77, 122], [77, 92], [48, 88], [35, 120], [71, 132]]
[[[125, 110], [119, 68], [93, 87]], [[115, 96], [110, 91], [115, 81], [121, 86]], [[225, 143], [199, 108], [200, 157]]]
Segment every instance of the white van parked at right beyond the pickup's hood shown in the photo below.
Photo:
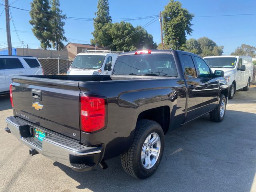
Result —
[[211, 56], [204, 57], [212, 71], [223, 70], [228, 82], [228, 98], [232, 99], [236, 90], [248, 91], [252, 79], [252, 58], [249, 56]]

